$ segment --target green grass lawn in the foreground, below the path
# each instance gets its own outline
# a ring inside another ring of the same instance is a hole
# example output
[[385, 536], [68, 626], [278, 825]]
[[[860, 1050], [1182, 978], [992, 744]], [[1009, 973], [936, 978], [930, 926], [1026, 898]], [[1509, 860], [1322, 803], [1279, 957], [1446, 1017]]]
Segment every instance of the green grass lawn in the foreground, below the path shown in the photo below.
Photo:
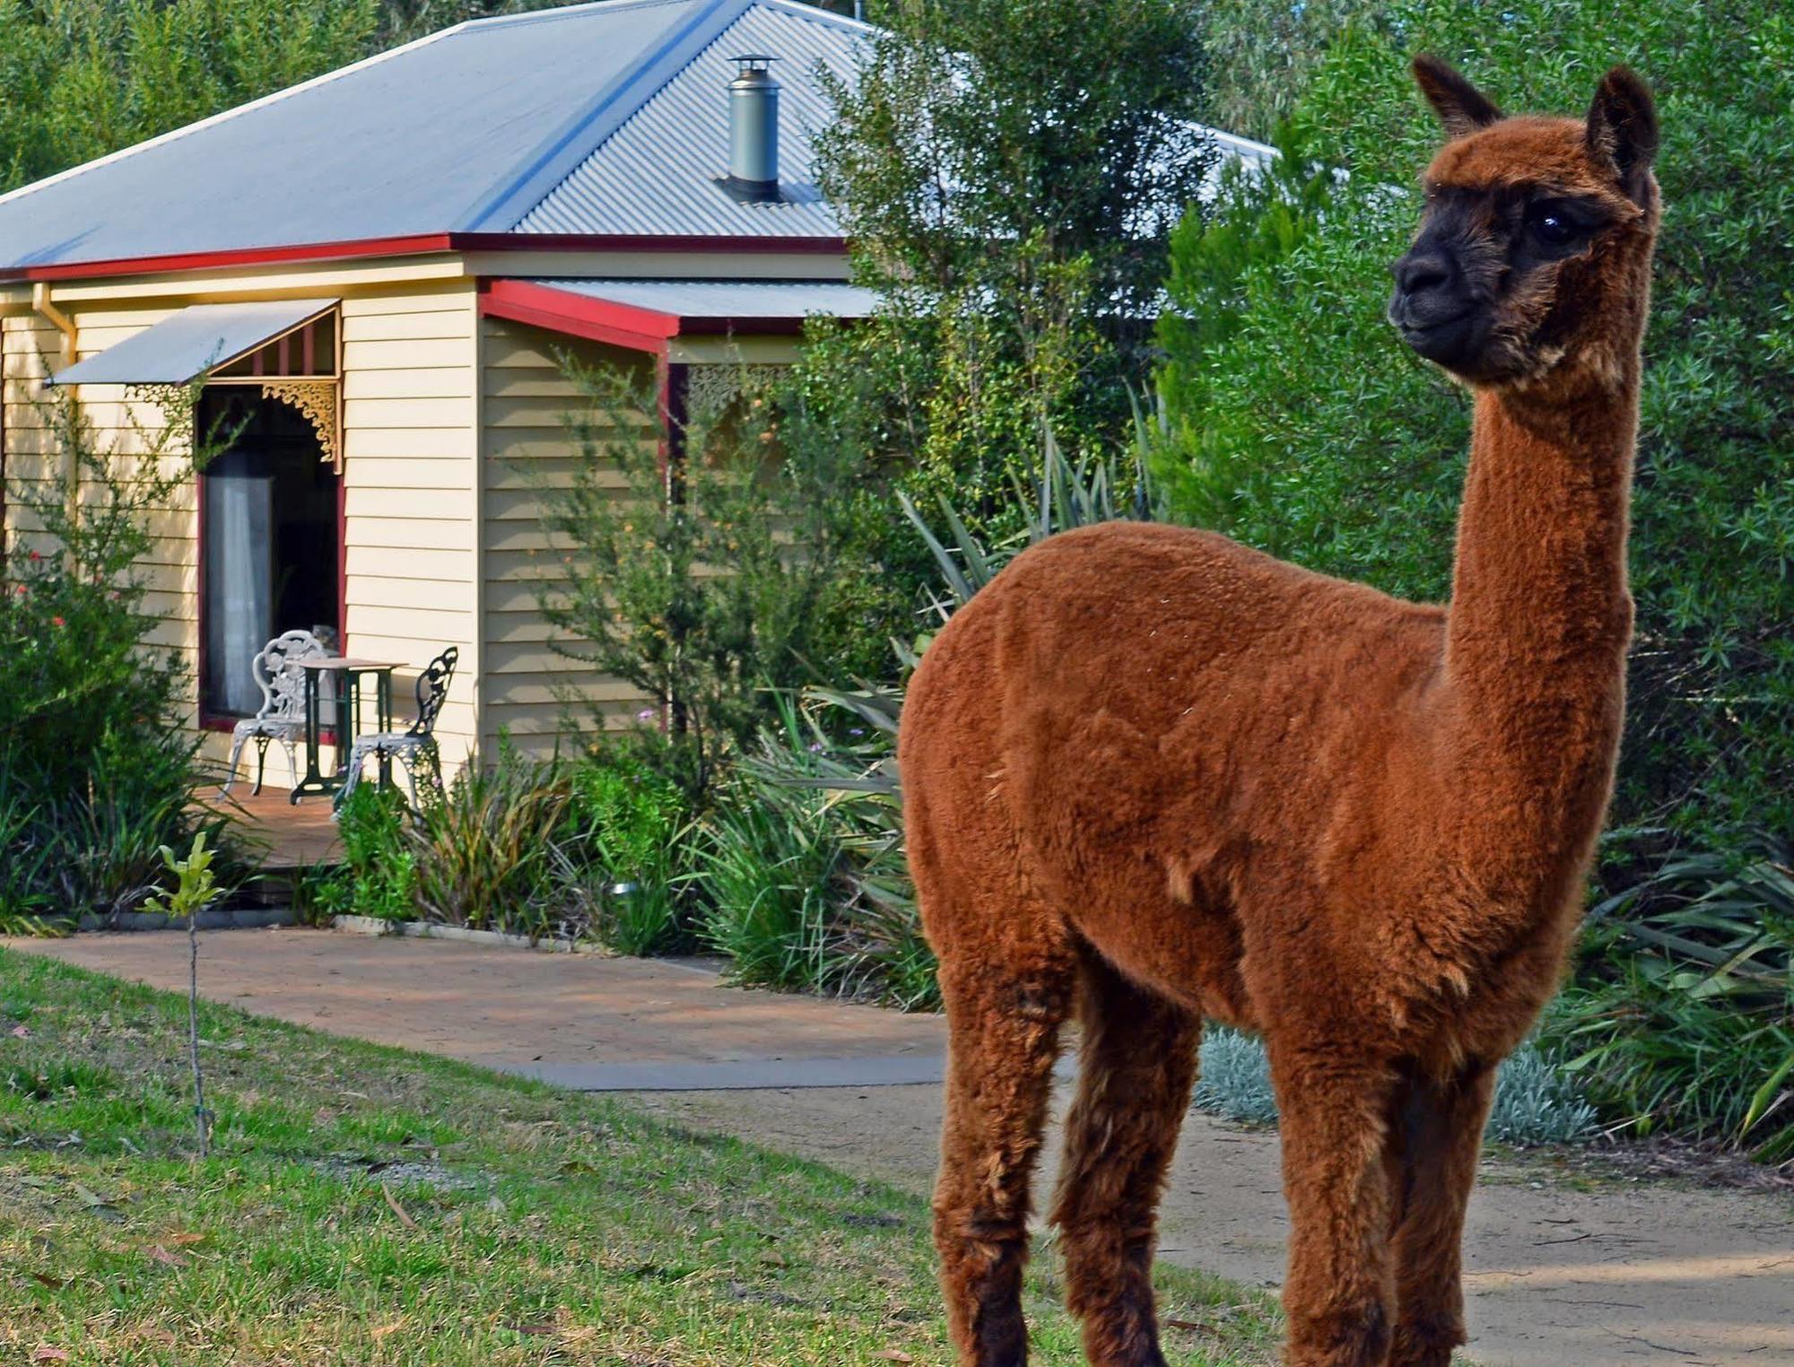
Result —
[[[594, 1096], [0, 951], [0, 1362], [947, 1363], [913, 1197]], [[1161, 1268], [1182, 1367], [1276, 1360]], [[1035, 1356], [1082, 1362], [1039, 1250]]]

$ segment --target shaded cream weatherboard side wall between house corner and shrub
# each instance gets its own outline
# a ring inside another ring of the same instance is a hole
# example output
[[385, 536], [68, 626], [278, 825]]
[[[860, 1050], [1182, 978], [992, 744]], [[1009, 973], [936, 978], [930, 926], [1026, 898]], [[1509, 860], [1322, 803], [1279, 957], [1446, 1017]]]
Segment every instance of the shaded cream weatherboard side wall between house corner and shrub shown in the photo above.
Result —
[[[649, 700], [633, 685], [597, 675], [549, 644], [538, 590], [560, 578], [562, 551], [542, 526], [542, 488], [565, 484], [576, 456], [567, 414], [581, 395], [560, 357], [588, 366], [628, 366], [653, 382], [651, 359], [599, 343], [488, 318], [481, 330], [484, 468], [483, 594], [484, 698], [481, 741], [493, 753], [501, 732], [518, 750], [549, 753], [565, 734], [567, 689], [596, 703], [614, 727], [630, 725]], [[619, 495], [623, 490], [619, 475]]]

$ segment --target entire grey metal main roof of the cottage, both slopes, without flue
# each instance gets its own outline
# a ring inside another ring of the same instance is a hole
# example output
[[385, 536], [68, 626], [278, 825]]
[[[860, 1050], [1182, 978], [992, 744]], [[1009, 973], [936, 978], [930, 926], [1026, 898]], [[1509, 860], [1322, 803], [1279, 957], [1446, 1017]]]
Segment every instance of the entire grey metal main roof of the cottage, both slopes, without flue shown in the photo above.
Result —
[[[832, 240], [816, 72], [850, 75], [872, 32], [798, 0], [475, 20], [0, 196], [0, 269], [441, 233]], [[716, 185], [743, 50], [780, 59], [782, 203]]]

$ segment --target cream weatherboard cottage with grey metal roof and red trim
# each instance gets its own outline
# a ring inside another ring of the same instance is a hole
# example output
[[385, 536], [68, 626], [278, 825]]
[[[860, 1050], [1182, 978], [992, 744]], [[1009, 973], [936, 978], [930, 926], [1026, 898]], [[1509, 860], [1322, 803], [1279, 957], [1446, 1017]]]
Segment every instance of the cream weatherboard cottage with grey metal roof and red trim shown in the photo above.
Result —
[[640, 705], [569, 673], [536, 610], [556, 355], [678, 414], [788, 362], [807, 316], [872, 310], [811, 158], [816, 72], [870, 32], [793, 0], [477, 20], [0, 197], [9, 479], [47, 475], [52, 384], [124, 448], [190, 382], [246, 423], [149, 567], [208, 744], [294, 626], [411, 666], [456, 646], [450, 766], [501, 730], [551, 744], [569, 682]]

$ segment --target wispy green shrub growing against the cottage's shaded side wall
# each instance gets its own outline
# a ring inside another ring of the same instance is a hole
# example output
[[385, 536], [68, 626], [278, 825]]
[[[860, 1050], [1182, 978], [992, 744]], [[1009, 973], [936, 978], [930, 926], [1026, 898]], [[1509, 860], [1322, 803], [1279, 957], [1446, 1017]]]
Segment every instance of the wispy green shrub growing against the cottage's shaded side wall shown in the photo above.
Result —
[[834, 490], [854, 472], [825, 445], [775, 441], [804, 429], [775, 434], [759, 395], [694, 414], [669, 465], [639, 380], [576, 375], [588, 398], [570, 420], [576, 468], [542, 490], [565, 547], [562, 578], [540, 596], [558, 628], [551, 646], [666, 700], [640, 721], [664, 723], [666, 771], [703, 811], [719, 762], [766, 716], [764, 689], [798, 684], [831, 639], [825, 606], [840, 601], [832, 579], [849, 558]]

